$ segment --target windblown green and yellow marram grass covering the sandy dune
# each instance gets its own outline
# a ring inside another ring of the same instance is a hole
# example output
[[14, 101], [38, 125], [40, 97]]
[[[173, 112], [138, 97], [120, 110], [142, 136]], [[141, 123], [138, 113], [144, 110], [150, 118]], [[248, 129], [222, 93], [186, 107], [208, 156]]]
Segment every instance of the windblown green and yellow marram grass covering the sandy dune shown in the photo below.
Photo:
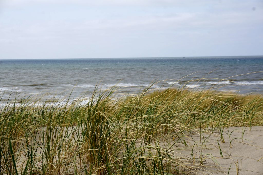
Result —
[[81, 98], [7, 102], [0, 174], [195, 174], [204, 157], [178, 153], [178, 142], [189, 146], [184, 133], [263, 125], [262, 102], [261, 95], [149, 87], [137, 95], [95, 89], [84, 105]]

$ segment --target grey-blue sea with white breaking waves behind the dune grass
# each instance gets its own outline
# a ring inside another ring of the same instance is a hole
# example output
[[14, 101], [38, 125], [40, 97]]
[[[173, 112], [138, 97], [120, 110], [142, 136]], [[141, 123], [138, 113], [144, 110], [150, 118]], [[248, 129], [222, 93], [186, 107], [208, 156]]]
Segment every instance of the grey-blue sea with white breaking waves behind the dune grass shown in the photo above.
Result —
[[0, 60], [0, 75], [0, 103], [88, 98], [113, 86], [132, 94], [170, 87], [261, 94], [263, 56]]

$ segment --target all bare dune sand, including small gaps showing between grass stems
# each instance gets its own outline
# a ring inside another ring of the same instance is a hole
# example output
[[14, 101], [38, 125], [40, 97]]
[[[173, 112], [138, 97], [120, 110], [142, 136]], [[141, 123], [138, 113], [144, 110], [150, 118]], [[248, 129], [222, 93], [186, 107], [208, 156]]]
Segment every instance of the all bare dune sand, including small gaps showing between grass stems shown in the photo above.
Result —
[[[44, 131], [44, 135], [47, 134], [46, 130], [46, 128], [44, 130], [39, 128], [40, 132]], [[81, 129], [79, 128], [78, 130], [80, 131]], [[76, 131], [76, 128], [64, 129], [63, 133], [69, 133], [70, 131]], [[82, 139], [81, 135], [80, 131], [78, 135], [80, 139]], [[75, 139], [78, 136], [73, 136], [72, 134], [72, 137]], [[188, 172], [189, 174], [262, 174], [263, 126], [252, 126], [251, 130], [247, 127], [229, 127], [223, 131], [222, 136], [224, 143], [221, 141], [220, 131], [212, 131], [211, 128], [210, 130], [197, 129], [185, 132], [185, 143], [175, 138], [175, 136], [166, 136], [156, 137], [152, 140], [151, 145], [152, 148], [155, 148], [156, 142], [158, 142], [160, 152], [168, 151], [171, 156], [178, 157], [181, 160], [182, 166], [192, 166], [191, 171]], [[39, 135], [36, 140], [41, 142], [42, 138], [43, 135]], [[46, 139], [44, 137], [44, 141]], [[140, 143], [142, 141], [145, 142], [143, 138], [136, 140], [137, 148], [141, 146]], [[74, 144], [74, 141], [72, 141], [72, 144]], [[42, 155], [43, 151], [40, 147], [35, 149], [38, 150], [37, 154], [39, 156]], [[156, 150], [153, 149], [152, 151]], [[146, 151], [145, 154], [149, 153]], [[38, 156], [36, 155], [36, 157]], [[58, 160], [58, 157], [54, 157], [54, 160]], [[26, 156], [20, 157], [18, 166], [25, 168]], [[83, 166], [87, 165], [84, 165], [79, 160], [75, 161], [74, 166], [69, 166], [65, 174], [74, 174], [76, 170], [83, 174], [85, 173]], [[86, 168], [89, 168], [89, 166]], [[61, 171], [63, 170], [65, 171], [65, 169], [61, 169]]]

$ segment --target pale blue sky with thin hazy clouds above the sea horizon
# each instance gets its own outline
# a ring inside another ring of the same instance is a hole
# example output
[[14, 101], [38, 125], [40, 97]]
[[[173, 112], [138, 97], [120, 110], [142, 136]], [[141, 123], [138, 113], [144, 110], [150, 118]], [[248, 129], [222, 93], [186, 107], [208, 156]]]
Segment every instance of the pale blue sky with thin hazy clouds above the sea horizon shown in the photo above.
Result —
[[0, 59], [263, 55], [263, 0], [0, 0]]

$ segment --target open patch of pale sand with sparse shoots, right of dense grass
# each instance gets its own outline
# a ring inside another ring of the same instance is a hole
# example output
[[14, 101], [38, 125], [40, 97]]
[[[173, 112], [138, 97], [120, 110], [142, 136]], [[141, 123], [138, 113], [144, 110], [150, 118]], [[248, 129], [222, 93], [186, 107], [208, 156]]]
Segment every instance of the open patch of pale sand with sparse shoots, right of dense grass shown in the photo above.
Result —
[[[204, 157], [204, 166], [195, 171], [196, 174], [262, 174], [263, 172], [263, 127], [254, 126], [245, 129], [242, 140], [243, 127], [230, 127], [225, 130], [221, 142], [221, 133], [204, 131], [187, 134], [188, 147], [181, 144], [178, 148], [180, 154], [189, 156], [192, 154], [200, 158]], [[231, 133], [231, 135], [229, 134]], [[230, 138], [229, 138], [230, 135]], [[231, 142], [231, 146], [230, 146]], [[222, 156], [220, 155], [220, 149]]]

